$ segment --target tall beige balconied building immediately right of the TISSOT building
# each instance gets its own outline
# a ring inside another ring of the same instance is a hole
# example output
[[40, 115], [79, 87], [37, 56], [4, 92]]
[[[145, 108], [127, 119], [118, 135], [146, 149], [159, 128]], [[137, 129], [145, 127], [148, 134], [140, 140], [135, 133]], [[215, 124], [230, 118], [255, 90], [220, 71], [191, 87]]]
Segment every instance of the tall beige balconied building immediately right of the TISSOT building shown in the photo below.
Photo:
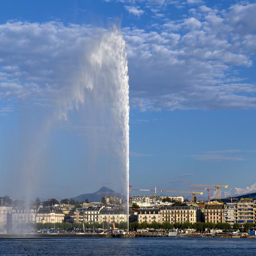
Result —
[[241, 198], [237, 203], [238, 223], [242, 226], [246, 222], [254, 221], [254, 200], [252, 198]]

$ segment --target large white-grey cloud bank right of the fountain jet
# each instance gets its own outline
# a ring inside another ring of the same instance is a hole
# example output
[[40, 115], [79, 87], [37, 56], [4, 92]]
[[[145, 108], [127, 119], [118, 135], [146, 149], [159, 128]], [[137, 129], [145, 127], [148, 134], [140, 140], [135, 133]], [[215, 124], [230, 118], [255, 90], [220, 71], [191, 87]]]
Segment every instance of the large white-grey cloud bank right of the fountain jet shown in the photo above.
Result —
[[256, 33], [246, 39], [244, 33], [232, 33], [236, 28], [229, 12], [234, 8], [224, 12], [201, 6], [198, 12], [197, 18], [169, 20], [158, 31], [123, 29], [133, 107], [256, 108], [256, 85], [237, 75], [241, 66], [254, 66]]

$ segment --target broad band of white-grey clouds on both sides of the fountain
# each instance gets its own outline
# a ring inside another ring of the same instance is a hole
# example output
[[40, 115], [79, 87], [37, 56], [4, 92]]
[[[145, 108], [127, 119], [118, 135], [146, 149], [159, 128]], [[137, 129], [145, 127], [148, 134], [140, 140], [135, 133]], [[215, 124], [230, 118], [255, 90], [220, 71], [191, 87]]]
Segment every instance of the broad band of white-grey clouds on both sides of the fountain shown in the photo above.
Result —
[[[255, 6], [200, 6], [196, 14], [156, 29], [123, 28], [132, 107], [255, 109], [256, 85], [238, 76], [241, 66], [254, 67], [256, 30], [249, 23]], [[100, 42], [100, 33], [92, 30], [102, 29], [53, 22], [0, 25], [0, 99], [50, 104], [47, 96], [76, 74], [83, 45]]]

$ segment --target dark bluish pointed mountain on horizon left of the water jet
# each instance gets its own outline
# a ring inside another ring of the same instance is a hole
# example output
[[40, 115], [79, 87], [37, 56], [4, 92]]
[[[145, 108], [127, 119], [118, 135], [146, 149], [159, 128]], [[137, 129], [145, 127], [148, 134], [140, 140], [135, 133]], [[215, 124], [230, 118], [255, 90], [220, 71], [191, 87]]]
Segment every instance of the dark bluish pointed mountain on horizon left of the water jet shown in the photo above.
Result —
[[[100, 188], [100, 190], [94, 192], [94, 193], [88, 193], [88, 194], [82, 194], [79, 196], [72, 197], [74, 200], [78, 200], [79, 202], [85, 201], [86, 198], [89, 200], [89, 202], [101, 202], [102, 196], [119, 196], [117, 192], [110, 188], [106, 188], [103, 186]], [[71, 199], [71, 198], [69, 198]]]

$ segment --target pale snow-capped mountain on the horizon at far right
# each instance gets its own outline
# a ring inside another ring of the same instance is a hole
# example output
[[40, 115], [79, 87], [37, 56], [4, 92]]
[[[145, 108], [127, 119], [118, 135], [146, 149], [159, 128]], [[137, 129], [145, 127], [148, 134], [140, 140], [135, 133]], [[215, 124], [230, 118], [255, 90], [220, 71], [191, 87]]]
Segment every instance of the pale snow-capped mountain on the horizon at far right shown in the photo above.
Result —
[[[245, 188], [221, 188], [219, 189], [219, 198], [227, 198], [230, 196], [240, 196], [243, 194], [255, 193], [256, 192], [256, 183], [251, 186], [247, 186]], [[211, 198], [216, 198], [216, 191], [212, 194]]]

